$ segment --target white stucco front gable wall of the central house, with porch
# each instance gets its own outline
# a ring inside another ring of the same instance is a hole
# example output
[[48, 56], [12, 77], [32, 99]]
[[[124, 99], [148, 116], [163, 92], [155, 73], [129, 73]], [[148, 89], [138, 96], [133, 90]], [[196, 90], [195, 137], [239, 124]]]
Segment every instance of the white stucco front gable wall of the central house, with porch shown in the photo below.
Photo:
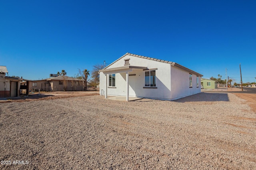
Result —
[[[145, 87], [145, 71], [142, 69], [133, 68], [132, 72], [129, 72], [129, 74], [136, 75], [129, 76], [128, 78], [129, 96], [157, 98], [165, 100], [170, 99], [170, 64], [126, 55], [108, 68], [124, 66], [124, 59], [130, 59], [129, 63], [131, 66], [144, 66], [149, 69], [157, 68], [156, 89], [143, 88]], [[100, 72], [100, 94], [103, 94], [102, 90], [104, 90], [105, 92], [105, 81], [105, 75]], [[107, 91], [107, 94], [110, 96], [126, 96], [126, 73], [116, 73], [116, 88], [108, 88]]]

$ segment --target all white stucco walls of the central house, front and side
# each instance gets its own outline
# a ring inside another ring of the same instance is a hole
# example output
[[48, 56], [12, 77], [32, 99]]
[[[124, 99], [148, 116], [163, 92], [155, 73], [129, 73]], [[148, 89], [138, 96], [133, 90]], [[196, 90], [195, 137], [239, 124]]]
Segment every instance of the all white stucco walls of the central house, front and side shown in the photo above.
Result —
[[[189, 72], [172, 66], [169, 63], [162, 63], [159, 61], [143, 59], [126, 55], [123, 58], [115, 61], [108, 68], [116, 68], [124, 66], [124, 59], [130, 59], [130, 66], [142, 66], [148, 69], [156, 69], [156, 87], [157, 88], [144, 88], [145, 87], [145, 71], [142, 69], [132, 69], [129, 74], [136, 74], [129, 76], [129, 96], [161, 99], [161, 100], [175, 100], [178, 98], [186, 97], [192, 94], [201, 92], [200, 89], [200, 76], [199, 86], [196, 87], [196, 75], [192, 74], [192, 88], [189, 86]], [[107, 68], [107, 69], [108, 69]], [[148, 71], [148, 70], [146, 70]], [[114, 73], [113, 73], [114, 74]], [[108, 80], [108, 77], [107, 77]], [[100, 72], [100, 95], [104, 95], [106, 86], [106, 77], [103, 72]], [[103, 92], [104, 91], [104, 92]], [[109, 96], [126, 96], [126, 72], [116, 73], [116, 88], [108, 88], [107, 94]]]

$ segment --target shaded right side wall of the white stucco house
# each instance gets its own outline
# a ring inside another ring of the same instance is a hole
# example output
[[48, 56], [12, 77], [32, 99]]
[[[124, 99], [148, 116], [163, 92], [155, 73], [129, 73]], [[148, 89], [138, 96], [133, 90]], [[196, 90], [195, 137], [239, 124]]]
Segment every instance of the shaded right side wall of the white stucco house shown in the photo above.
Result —
[[195, 74], [192, 74], [192, 88], [190, 88], [190, 79], [189, 79], [190, 72], [187, 72], [181, 68], [176, 66], [171, 66], [171, 98], [172, 100], [176, 100], [179, 98], [183, 98], [186, 96], [190, 96], [192, 94], [197, 94], [201, 92], [201, 77], [198, 76], [198, 87], [196, 82]]

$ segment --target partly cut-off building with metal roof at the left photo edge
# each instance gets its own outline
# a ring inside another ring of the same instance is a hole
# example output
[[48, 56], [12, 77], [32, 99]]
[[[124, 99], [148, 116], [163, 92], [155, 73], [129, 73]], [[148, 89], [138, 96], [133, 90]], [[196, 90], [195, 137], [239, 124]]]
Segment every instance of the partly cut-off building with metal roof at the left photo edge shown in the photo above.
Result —
[[6, 66], [0, 66], [0, 97], [18, 97], [20, 95], [20, 78], [6, 76]]

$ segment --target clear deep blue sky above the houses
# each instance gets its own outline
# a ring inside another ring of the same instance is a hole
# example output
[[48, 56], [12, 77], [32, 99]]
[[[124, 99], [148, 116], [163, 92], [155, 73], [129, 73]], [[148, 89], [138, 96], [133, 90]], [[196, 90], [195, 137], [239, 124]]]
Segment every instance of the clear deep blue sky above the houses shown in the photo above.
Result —
[[36, 80], [92, 70], [125, 53], [173, 61], [203, 78], [256, 79], [255, 0], [2, 0], [0, 65]]

